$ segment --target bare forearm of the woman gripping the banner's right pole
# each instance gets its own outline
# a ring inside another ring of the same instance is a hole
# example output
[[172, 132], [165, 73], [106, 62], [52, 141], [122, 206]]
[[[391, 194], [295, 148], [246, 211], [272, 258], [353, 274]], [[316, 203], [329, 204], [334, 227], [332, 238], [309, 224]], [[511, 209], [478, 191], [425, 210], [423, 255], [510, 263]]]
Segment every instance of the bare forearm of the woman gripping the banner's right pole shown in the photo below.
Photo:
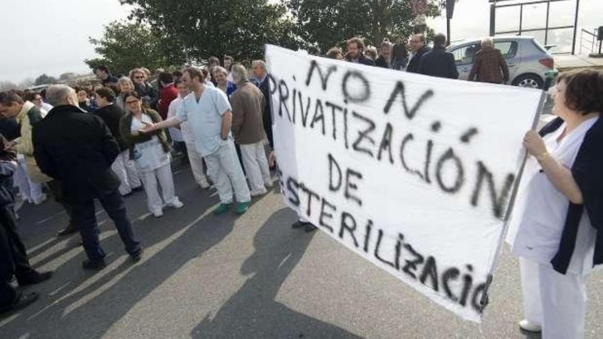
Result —
[[530, 155], [538, 160], [542, 166], [543, 172], [552, 182], [553, 186], [559, 192], [562, 192], [569, 201], [575, 204], [581, 204], [582, 191], [578, 183], [571, 174], [569, 168], [560, 164], [555, 158], [547, 152], [543, 139], [537, 131], [530, 130], [524, 137], [524, 146]]

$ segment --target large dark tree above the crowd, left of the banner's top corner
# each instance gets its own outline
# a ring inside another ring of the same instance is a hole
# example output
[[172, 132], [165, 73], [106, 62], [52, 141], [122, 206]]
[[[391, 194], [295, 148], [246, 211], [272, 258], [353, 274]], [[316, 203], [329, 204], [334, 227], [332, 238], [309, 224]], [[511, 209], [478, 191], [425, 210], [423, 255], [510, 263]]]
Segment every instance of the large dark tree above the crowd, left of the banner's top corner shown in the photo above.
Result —
[[184, 47], [188, 61], [212, 55], [262, 58], [264, 44], [296, 47], [294, 23], [282, 3], [267, 0], [121, 0], [131, 18]]

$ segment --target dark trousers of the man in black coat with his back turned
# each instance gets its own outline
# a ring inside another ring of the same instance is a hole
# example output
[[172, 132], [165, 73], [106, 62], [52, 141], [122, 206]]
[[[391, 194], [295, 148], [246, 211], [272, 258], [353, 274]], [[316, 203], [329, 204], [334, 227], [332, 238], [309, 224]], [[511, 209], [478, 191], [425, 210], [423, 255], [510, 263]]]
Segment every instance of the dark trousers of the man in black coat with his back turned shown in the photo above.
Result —
[[[99, 198], [101, 205], [115, 223], [119, 238], [125, 245], [125, 251], [130, 255], [135, 255], [140, 251], [140, 242], [134, 239], [132, 223], [127, 217], [125, 204], [119, 192], [114, 191], [111, 194]], [[105, 252], [99, 243], [99, 225], [97, 223], [95, 203], [93, 199], [77, 201], [71, 204], [73, 208], [73, 221], [79, 227], [79, 234], [84, 242], [84, 250], [88, 259], [101, 260], [105, 258]]]

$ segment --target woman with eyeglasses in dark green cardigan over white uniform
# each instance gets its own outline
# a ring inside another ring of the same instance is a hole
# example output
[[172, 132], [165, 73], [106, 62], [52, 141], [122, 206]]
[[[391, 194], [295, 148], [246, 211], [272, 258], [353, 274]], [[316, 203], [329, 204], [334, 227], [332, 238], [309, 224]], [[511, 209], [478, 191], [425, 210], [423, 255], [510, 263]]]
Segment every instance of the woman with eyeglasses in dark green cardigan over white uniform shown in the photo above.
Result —
[[[163, 215], [163, 206], [182, 208], [183, 203], [175, 196], [174, 181], [170, 166], [170, 145], [163, 129], [142, 134], [138, 130], [148, 123], [159, 123], [161, 117], [151, 109], [143, 108], [143, 99], [138, 92], [130, 91], [123, 95], [127, 113], [119, 122], [119, 131], [125, 143], [130, 147], [130, 159], [134, 160], [136, 171], [143, 181], [147, 193], [149, 211], [159, 218]], [[161, 186], [163, 200], [159, 196], [157, 184]]]

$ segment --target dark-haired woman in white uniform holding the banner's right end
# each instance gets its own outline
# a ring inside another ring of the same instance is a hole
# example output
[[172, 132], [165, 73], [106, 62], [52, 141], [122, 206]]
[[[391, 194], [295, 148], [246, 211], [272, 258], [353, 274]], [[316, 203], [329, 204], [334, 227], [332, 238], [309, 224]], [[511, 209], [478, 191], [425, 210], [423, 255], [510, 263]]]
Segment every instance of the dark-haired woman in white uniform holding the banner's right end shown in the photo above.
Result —
[[558, 78], [553, 112], [528, 131], [509, 240], [519, 256], [525, 319], [544, 339], [584, 337], [587, 276], [603, 264], [603, 73]]

